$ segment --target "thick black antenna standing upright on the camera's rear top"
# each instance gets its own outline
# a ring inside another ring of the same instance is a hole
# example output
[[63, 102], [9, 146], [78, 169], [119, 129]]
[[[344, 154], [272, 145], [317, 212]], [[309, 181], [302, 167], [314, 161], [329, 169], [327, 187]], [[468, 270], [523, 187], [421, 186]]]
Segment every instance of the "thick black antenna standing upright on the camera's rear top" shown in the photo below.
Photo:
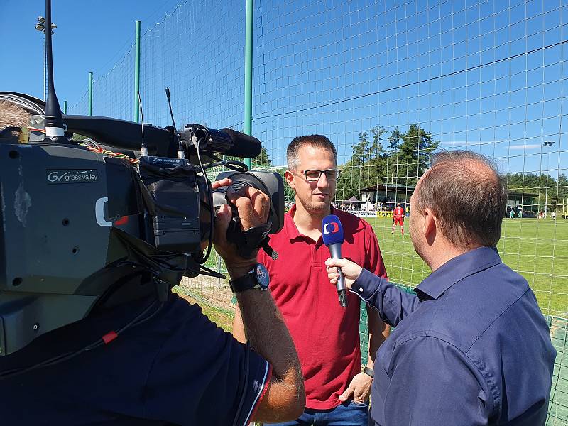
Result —
[[45, 138], [55, 143], [67, 143], [65, 125], [53, 84], [53, 50], [51, 47], [51, 0], [45, 0], [45, 56], [48, 68], [48, 97], [45, 100]]

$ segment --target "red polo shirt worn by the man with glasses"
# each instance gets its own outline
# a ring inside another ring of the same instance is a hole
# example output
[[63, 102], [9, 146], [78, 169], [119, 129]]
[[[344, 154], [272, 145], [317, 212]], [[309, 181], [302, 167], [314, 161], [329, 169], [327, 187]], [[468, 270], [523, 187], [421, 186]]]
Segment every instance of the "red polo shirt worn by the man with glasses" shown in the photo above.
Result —
[[[322, 237], [313, 241], [300, 234], [291, 214], [284, 229], [271, 236], [279, 258], [264, 251], [258, 255], [271, 275], [270, 290], [294, 340], [306, 390], [306, 407], [327, 410], [339, 405], [351, 378], [361, 373], [359, 349], [359, 297], [348, 294], [348, 306], [339, 305], [335, 286], [329, 283], [325, 261], [329, 249]], [[332, 209], [342, 222], [342, 255], [386, 278], [378, 241], [371, 225], [359, 217]]]

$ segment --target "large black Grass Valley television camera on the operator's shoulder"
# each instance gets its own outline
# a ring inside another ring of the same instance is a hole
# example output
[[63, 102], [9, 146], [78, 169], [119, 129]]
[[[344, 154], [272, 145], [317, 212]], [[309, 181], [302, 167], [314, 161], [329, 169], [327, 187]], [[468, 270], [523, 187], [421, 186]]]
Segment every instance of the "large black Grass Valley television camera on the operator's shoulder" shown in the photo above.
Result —
[[[91, 134], [111, 133], [105, 124], [141, 128], [115, 119], [74, 117], [79, 116], [70, 116], [68, 128], [77, 133], [82, 132], [77, 122]], [[148, 127], [162, 136], [148, 144], [154, 154], [175, 152], [168, 146], [175, 146], [172, 129], [145, 125], [146, 134]], [[192, 129], [192, 134], [201, 132], [200, 138], [218, 134], [202, 126]], [[233, 145], [241, 143], [251, 153], [238, 139], [241, 134], [232, 133]], [[109, 150], [132, 148], [133, 142], [120, 146], [115, 138], [102, 140], [107, 151], [101, 153], [92, 142], [74, 141], [70, 130], [65, 136], [64, 143], [50, 138], [18, 143], [11, 131], [0, 134], [0, 355], [81, 320], [133, 276], [151, 275], [167, 292], [183, 275], [207, 273], [200, 265], [202, 251], [212, 233], [214, 209], [227, 201], [225, 190], [212, 191], [202, 165], [196, 164], [190, 133], [182, 133], [188, 159], [131, 153], [138, 165], [109, 155]], [[226, 141], [219, 146], [239, 151]], [[260, 153], [258, 147], [252, 153]], [[201, 154], [207, 161], [214, 158], [212, 151]], [[284, 209], [280, 175], [226, 172], [219, 179], [229, 175], [233, 185], [268, 192], [270, 234], [279, 231]]]

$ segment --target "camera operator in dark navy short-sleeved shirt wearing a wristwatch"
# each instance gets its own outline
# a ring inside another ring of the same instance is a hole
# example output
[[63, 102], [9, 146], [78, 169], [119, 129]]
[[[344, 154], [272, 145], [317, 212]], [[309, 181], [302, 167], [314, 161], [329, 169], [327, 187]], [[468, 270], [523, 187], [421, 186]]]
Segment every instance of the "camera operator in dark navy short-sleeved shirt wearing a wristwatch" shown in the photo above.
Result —
[[[213, 188], [230, 183], [214, 182]], [[229, 200], [243, 229], [266, 223], [263, 192], [246, 187], [229, 193]], [[226, 241], [230, 220], [231, 210], [223, 205], [214, 243], [235, 280], [256, 266], [256, 253], [242, 258]], [[245, 345], [175, 293], [153, 309], [152, 281], [149, 273], [133, 273], [83, 320], [0, 357], [3, 423], [226, 426], [293, 420], [302, 413], [300, 363], [268, 291], [236, 295], [249, 337]], [[126, 325], [131, 327], [121, 333]], [[107, 344], [92, 349], [101, 338]]]

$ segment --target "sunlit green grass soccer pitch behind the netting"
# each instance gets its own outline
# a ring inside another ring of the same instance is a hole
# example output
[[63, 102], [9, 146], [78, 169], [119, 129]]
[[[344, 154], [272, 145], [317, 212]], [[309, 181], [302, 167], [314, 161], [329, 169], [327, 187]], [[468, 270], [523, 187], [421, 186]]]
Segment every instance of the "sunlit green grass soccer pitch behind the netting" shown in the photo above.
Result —
[[[415, 287], [430, 269], [415, 253], [409, 220], [391, 234], [392, 219], [364, 218], [375, 231], [389, 279]], [[542, 313], [568, 317], [568, 220], [503, 219], [498, 251], [510, 268], [523, 275], [535, 292]]]

